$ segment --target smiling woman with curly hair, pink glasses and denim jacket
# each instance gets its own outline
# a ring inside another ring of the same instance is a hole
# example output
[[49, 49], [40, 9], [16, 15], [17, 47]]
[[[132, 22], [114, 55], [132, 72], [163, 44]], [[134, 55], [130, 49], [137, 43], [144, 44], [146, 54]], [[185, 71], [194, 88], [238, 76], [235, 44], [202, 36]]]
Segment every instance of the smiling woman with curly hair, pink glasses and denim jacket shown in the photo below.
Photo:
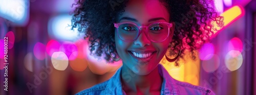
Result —
[[123, 63], [111, 79], [77, 94], [214, 94], [173, 79], [159, 64], [166, 55], [183, 58], [185, 50], [195, 59], [194, 50], [213, 34], [214, 26], [209, 23], [223, 26], [222, 17], [212, 8], [214, 3], [78, 0], [75, 5], [72, 29], [86, 33], [91, 54]]

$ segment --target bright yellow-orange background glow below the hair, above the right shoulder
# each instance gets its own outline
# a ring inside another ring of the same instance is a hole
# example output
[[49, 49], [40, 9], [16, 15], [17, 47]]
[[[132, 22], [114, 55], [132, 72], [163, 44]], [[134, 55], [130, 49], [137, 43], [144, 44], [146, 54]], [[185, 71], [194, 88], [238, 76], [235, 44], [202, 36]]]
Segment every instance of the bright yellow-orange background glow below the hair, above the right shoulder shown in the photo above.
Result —
[[180, 59], [180, 66], [176, 67], [174, 62], [168, 62], [165, 57], [160, 61], [164, 66], [170, 76], [174, 79], [182, 82], [187, 82], [193, 85], [199, 85], [200, 79], [200, 59], [199, 54], [197, 54], [197, 59], [193, 60], [189, 57], [189, 52], [185, 53], [184, 59]]

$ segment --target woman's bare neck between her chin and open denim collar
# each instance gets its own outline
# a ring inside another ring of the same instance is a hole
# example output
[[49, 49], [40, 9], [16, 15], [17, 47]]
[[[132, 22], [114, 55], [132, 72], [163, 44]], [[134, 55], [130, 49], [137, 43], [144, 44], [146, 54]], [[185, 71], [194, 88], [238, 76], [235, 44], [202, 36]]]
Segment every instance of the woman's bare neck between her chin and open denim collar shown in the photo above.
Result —
[[126, 93], [147, 94], [160, 92], [163, 78], [158, 72], [158, 67], [148, 75], [137, 75], [131, 69], [123, 65], [121, 69], [121, 82], [122, 88]]

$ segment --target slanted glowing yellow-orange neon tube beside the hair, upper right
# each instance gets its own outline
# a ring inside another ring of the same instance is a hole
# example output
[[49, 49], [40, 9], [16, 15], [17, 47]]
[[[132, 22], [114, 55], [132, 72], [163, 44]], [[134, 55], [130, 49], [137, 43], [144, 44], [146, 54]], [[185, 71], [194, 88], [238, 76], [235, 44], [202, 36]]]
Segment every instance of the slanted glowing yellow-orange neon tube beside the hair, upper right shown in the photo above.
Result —
[[220, 32], [222, 29], [224, 29], [225, 27], [227, 27], [228, 25], [230, 25], [230, 23], [236, 21], [237, 19], [241, 18], [242, 16], [244, 16], [245, 11], [244, 8], [242, 6], [233, 6], [230, 9], [224, 11], [221, 16], [224, 17], [223, 21], [224, 21], [224, 27], [220, 28], [220, 27], [216, 27], [217, 23], [216, 22], [212, 22], [215, 26], [215, 28], [218, 31], [214, 31], [214, 35], [211, 37], [214, 37], [218, 34], [218, 32]]

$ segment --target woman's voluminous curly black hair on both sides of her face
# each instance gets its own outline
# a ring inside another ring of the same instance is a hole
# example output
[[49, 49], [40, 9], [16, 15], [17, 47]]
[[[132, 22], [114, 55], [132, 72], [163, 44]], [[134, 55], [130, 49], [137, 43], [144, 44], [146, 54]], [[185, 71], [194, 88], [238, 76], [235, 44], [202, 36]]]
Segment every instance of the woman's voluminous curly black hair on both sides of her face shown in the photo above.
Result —
[[[175, 22], [173, 46], [169, 47], [166, 54], [174, 55], [179, 52], [183, 58], [185, 50], [192, 53], [196, 59], [194, 50], [200, 49], [216, 27], [223, 27], [223, 17], [219, 16], [214, 7], [214, 1], [199, 0], [159, 0], [170, 14], [170, 21]], [[125, 11], [128, 0], [77, 0], [76, 9], [72, 17], [72, 30], [77, 28], [79, 32], [89, 37], [91, 55], [98, 57], [104, 55], [104, 59], [113, 62], [110, 53], [117, 55], [115, 47], [114, 22]], [[213, 24], [212, 22], [215, 22]], [[108, 51], [110, 49], [110, 52]], [[170, 51], [169, 51], [170, 50]], [[176, 65], [178, 65], [176, 61]]]

